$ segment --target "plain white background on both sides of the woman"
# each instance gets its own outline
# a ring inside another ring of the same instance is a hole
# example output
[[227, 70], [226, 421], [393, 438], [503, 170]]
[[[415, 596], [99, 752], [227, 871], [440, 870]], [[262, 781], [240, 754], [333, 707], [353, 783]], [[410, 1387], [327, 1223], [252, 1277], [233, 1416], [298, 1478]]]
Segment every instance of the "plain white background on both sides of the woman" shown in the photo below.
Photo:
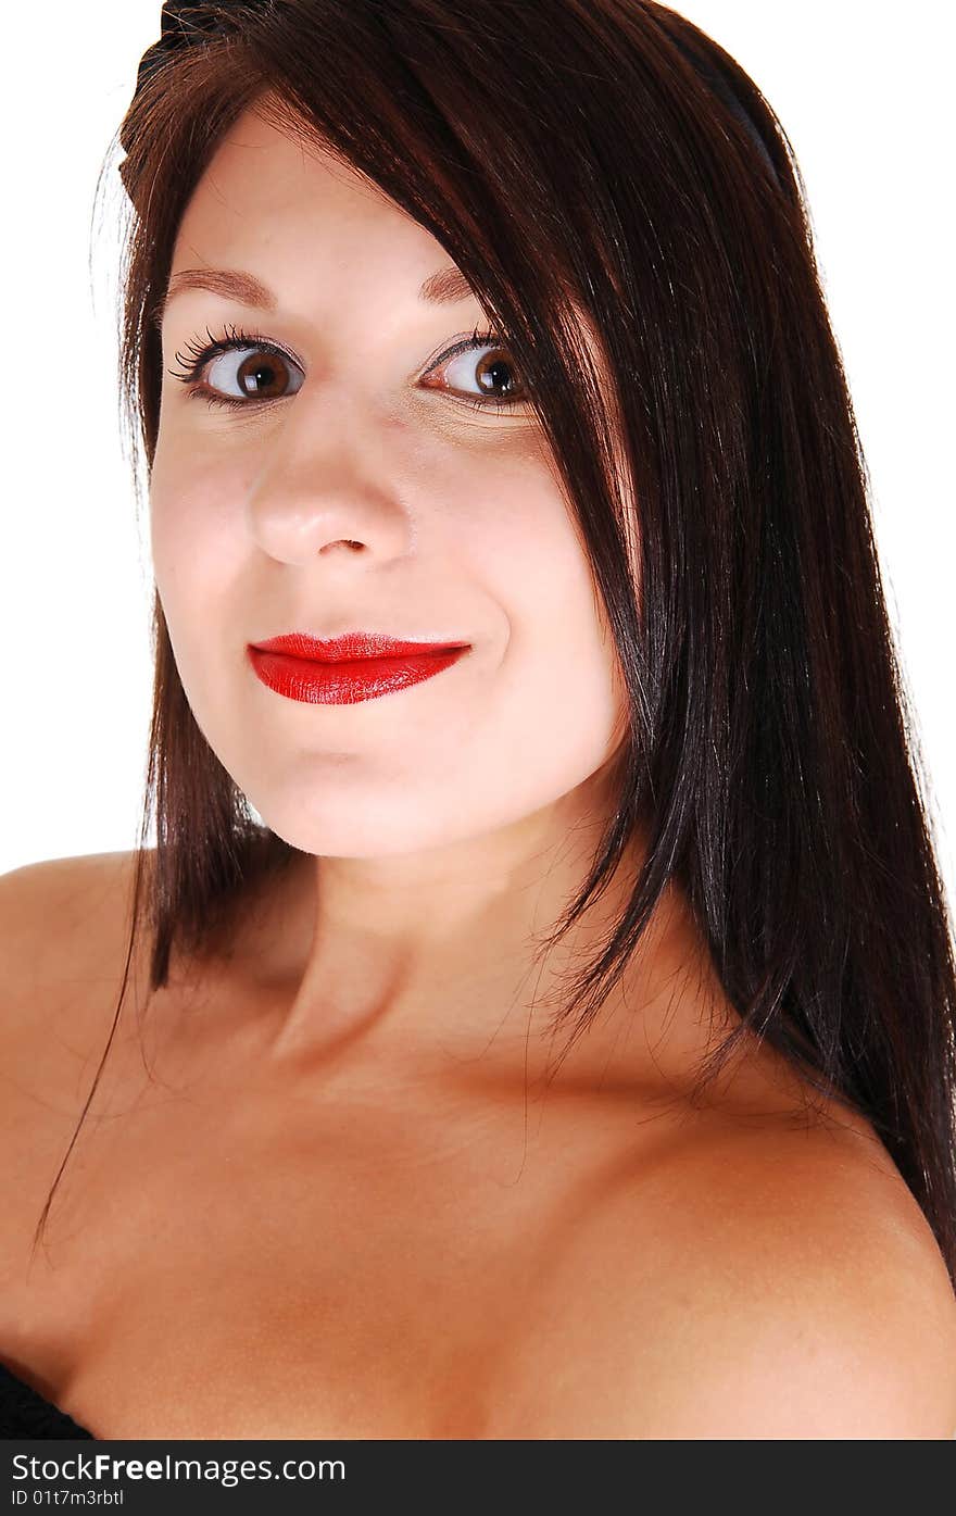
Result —
[[[674, 9], [756, 79], [804, 174], [953, 891], [953, 8], [924, 0], [912, 21], [871, 0]], [[0, 872], [136, 840], [150, 564], [118, 429], [115, 167], [106, 218], [91, 217], [159, 0], [59, 0], [42, 27], [18, 5], [3, 24], [23, 67], [5, 79]]]

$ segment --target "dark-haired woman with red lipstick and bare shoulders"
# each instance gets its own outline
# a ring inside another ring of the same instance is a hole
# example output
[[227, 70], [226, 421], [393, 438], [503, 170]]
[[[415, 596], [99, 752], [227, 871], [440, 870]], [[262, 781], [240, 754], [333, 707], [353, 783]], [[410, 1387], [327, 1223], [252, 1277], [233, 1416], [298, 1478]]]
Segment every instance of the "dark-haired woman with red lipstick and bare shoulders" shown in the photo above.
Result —
[[956, 975], [768, 105], [636, 0], [177, 5], [121, 143], [155, 720], [142, 846], [0, 881], [12, 1392], [953, 1436]]

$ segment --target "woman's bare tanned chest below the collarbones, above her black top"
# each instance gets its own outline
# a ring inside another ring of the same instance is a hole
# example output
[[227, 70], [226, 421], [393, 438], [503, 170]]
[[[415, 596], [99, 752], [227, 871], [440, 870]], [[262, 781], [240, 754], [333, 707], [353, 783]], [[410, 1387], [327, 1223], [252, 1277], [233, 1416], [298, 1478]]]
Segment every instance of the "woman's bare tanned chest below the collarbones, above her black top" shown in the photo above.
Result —
[[583, 1393], [601, 1364], [600, 1330], [580, 1340], [600, 1269], [571, 1325], [568, 1273], [606, 1151], [476, 1123], [435, 1152], [409, 1120], [182, 1092], [114, 1108], [47, 1249], [5, 1257], [5, 1354], [102, 1437], [547, 1434], [541, 1383], [585, 1352]]

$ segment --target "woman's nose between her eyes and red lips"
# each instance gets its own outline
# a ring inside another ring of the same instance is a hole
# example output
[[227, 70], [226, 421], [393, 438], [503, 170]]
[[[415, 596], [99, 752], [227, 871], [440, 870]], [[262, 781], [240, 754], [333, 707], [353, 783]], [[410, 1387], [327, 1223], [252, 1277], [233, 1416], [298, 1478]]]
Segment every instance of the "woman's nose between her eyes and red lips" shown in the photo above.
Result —
[[412, 522], [392, 488], [383, 426], [355, 394], [303, 393], [276, 429], [247, 502], [248, 529], [286, 564], [398, 558]]

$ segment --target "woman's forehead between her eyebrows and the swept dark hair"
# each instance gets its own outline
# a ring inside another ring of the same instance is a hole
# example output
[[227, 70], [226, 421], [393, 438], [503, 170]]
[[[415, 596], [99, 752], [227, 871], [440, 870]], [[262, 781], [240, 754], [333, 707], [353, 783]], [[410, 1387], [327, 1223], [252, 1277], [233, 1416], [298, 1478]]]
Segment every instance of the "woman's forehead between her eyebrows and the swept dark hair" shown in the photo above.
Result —
[[173, 273], [244, 268], [282, 290], [303, 279], [418, 291], [450, 262], [426, 227], [303, 135], [245, 111], [220, 141], [182, 217]]

